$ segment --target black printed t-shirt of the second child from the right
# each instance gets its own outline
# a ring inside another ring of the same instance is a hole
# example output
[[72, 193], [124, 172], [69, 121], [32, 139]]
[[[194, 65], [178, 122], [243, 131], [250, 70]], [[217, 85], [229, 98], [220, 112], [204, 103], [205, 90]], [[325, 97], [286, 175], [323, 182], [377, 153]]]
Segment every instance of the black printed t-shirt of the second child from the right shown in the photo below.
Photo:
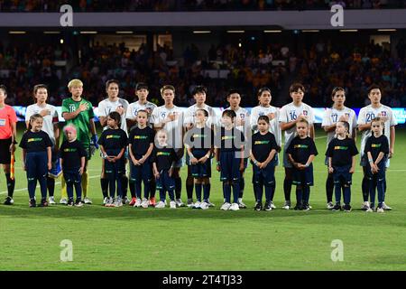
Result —
[[353, 156], [358, 154], [353, 138], [346, 137], [338, 139], [334, 137], [328, 144], [326, 155], [331, 157], [331, 164], [334, 166], [351, 165]]

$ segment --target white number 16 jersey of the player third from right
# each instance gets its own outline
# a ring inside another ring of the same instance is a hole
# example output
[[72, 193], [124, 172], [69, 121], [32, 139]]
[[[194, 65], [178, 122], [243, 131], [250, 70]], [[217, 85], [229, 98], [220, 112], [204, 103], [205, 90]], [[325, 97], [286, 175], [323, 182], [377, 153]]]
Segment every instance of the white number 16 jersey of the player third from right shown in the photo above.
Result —
[[[299, 107], [293, 105], [293, 102], [287, 104], [286, 106], [281, 107], [279, 122], [280, 123], [289, 123], [296, 120], [299, 116], [307, 117], [309, 125], [314, 123], [314, 113], [313, 108], [308, 106], [305, 103], [301, 103]], [[284, 150], [288, 148], [288, 145], [291, 144], [291, 140], [296, 135], [296, 126], [292, 126], [290, 129], [285, 130], [285, 146]]]

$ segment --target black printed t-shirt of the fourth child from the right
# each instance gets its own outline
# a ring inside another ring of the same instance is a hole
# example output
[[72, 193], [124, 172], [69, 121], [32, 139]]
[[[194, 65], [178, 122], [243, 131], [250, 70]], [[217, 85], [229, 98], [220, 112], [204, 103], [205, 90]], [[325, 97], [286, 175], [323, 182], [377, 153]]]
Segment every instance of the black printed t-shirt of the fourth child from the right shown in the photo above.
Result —
[[[254, 134], [251, 142], [254, 158], [260, 163], [266, 161], [272, 150], [278, 150], [278, 144], [276, 144], [275, 135], [272, 135], [272, 133], [270, 132], [267, 132], [265, 135], [262, 135], [260, 132]], [[274, 159], [275, 156], [273, 156], [272, 161]]]

